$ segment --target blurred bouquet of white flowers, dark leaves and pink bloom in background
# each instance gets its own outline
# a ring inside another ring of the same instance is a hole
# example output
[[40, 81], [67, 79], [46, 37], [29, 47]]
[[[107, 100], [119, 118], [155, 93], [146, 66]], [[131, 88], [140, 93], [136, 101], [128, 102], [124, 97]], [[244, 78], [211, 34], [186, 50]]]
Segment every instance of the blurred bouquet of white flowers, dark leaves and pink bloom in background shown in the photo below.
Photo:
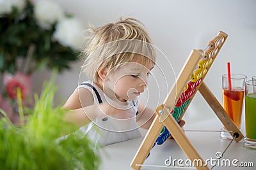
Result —
[[13, 120], [17, 87], [24, 103], [31, 103], [31, 74], [45, 67], [68, 69], [78, 59], [84, 29], [54, 1], [0, 1], [0, 6], [0, 108]]

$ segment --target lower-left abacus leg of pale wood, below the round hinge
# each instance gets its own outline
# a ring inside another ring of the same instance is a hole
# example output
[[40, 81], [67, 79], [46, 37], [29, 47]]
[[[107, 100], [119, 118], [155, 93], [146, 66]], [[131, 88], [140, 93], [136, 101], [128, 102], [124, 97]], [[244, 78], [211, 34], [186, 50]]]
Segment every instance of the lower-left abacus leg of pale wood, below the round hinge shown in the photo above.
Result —
[[136, 155], [131, 162], [130, 166], [133, 169], [139, 170], [141, 168], [141, 166], [137, 166], [137, 164], [144, 163], [153, 144], [156, 142], [156, 139], [158, 137], [156, 134], [160, 134], [162, 129], [163, 124], [159, 122], [159, 117], [156, 115], [154, 121], [152, 122], [152, 125], [148, 129], [148, 132], [140, 145], [140, 148], [138, 149]]

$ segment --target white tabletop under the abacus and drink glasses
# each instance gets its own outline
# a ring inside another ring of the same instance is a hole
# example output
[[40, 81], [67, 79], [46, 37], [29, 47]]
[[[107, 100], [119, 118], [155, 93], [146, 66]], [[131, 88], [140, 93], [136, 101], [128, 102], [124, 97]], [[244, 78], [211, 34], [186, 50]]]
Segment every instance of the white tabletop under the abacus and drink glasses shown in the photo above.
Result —
[[[220, 130], [222, 124], [218, 118], [214, 118], [200, 122], [200, 127], [201, 128], [198, 128], [198, 124], [186, 124], [184, 130]], [[202, 127], [204, 127], [204, 129], [202, 129]], [[211, 158], [216, 159], [216, 152], [223, 152], [229, 143], [229, 141], [220, 139], [220, 132], [185, 133], [204, 160]], [[100, 169], [132, 169], [130, 167], [131, 161], [142, 140], [143, 138], [136, 138], [102, 148], [102, 165]], [[182, 152], [179, 145], [177, 145], [173, 139], [164, 142], [161, 146], [156, 145], [150, 151], [150, 157], [145, 160], [143, 164], [144, 166], [141, 167], [141, 169], [178, 169], [166, 166], [166, 163], [169, 164], [169, 162], [164, 162], [166, 159], [170, 159], [170, 157], [172, 160], [182, 159], [184, 161], [182, 163], [184, 166], [185, 161], [188, 159], [188, 157], [186, 157], [185, 153]], [[256, 150], [248, 150], [243, 148], [243, 141], [239, 141], [239, 143], [234, 141], [231, 143], [228, 150], [224, 153], [222, 159], [230, 160], [230, 167], [217, 165], [213, 169], [256, 169]], [[234, 159], [237, 159], [237, 161]], [[234, 163], [237, 165], [240, 165], [241, 162], [252, 162], [253, 167], [234, 167], [232, 166], [232, 160], [234, 160]], [[225, 162], [223, 164], [226, 165]], [[175, 162], [175, 165], [178, 166], [177, 162]], [[211, 169], [210, 162], [208, 165], [208, 167]]]

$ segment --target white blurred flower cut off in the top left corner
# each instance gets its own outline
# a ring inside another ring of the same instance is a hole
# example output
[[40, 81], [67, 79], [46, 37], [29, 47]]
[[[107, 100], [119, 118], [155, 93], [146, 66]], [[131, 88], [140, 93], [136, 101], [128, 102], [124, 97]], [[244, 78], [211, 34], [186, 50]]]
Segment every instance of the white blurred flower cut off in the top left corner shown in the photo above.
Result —
[[11, 13], [13, 7], [17, 8], [18, 11], [22, 11], [25, 4], [25, 0], [0, 0], [0, 15]]

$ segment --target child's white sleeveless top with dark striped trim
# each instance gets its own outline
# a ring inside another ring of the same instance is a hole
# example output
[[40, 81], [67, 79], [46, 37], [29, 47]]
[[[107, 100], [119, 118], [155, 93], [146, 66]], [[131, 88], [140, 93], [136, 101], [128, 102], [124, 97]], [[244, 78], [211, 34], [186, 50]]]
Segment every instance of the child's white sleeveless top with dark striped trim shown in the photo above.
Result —
[[[115, 104], [115, 102], [106, 96], [97, 85], [92, 83], [92, 81], [84, 81], [77, 87], [77, 89], [79, 88], [85, 88], [92, 92], [94, 98], [93, 104], [104, 103], [107, 101], [109, 104]], [[137, 102], [127, 101], [126, 105], [122, 106], [122, 109], [129, 111], [132, 115], [130, 115], [129, 118], [122, 118], [122, 115], [120, 115], [120, 118], [109, 116], [95, 118], [95, 120], [92, 120], [89, 124], [81, 127], [79, 131], [83, 132], [84, 135], [88, 134], [88, 138], [95, 141], [95, 146], [98, 144], [106, 146], [141, 137], [138, 125], [136, 124], [138, 100]]]

